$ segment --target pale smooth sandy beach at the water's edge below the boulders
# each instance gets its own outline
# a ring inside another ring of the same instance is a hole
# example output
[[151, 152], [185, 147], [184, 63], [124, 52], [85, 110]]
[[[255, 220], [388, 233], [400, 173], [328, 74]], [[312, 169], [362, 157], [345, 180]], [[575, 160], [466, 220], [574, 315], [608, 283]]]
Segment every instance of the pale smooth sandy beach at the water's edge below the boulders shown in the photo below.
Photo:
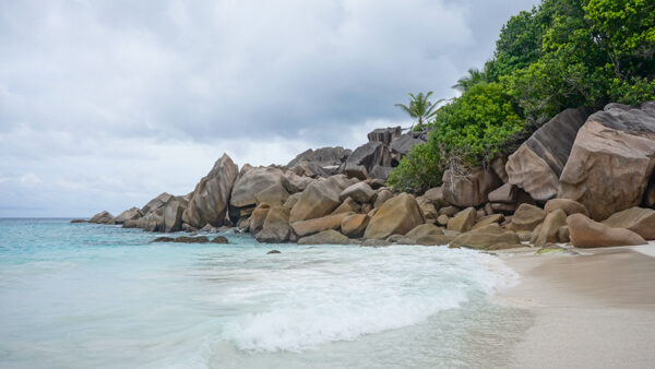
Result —
[[521, 282], [495, 298], [535, 317], [513, 366], [653, 368], [655, 243], [570, 250], [499, 254]]

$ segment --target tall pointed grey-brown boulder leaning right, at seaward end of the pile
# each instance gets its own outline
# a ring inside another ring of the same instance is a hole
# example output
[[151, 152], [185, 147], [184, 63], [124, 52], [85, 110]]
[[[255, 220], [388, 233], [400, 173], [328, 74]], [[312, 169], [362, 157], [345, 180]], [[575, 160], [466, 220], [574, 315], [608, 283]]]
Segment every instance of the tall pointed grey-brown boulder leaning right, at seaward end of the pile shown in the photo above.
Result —
[[225, 223], [229, 197], [239, 169], [227, 154], [195, 186], [182, 221], [194, 228], [210, 224], [219, 227]]

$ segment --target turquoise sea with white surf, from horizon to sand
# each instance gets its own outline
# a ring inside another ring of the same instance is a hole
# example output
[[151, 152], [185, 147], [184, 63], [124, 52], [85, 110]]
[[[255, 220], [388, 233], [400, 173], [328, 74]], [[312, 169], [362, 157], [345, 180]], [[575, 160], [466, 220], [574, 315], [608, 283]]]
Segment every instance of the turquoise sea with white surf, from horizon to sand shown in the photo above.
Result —
[[488, 299], [516, 275], [471, 250], [156, 236], [0, 219], [0, 367], [502, 366], [529, 325]]

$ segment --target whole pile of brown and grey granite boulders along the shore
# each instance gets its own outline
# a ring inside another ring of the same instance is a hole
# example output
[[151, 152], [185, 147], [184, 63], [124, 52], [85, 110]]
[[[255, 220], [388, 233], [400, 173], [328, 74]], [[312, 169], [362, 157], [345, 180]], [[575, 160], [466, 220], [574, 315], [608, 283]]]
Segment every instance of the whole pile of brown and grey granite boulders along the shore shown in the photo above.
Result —
[[261, 242], [446, 245], [485, 250], [641, 245], [655, 239], [655, 102], [567, 109], [509, 157], [420, 195], [393, 193], [389, 172], [426, 132], [369, 133], [355, 151], [323, 147], [286, 166], [240, 170], [229, 156], [186, 195], [90, 222], [151, 231], [236, 226]]

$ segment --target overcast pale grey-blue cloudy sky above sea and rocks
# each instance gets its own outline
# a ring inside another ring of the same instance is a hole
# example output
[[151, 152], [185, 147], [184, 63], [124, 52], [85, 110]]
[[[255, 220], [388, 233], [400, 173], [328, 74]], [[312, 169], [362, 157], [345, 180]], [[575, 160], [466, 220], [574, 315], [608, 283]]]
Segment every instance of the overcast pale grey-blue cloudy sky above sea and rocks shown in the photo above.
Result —
[[538, 0], [0, 0], [0, 217], [88, 217], [408, 126]]

